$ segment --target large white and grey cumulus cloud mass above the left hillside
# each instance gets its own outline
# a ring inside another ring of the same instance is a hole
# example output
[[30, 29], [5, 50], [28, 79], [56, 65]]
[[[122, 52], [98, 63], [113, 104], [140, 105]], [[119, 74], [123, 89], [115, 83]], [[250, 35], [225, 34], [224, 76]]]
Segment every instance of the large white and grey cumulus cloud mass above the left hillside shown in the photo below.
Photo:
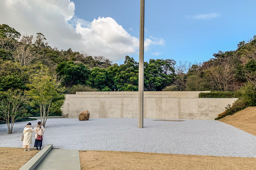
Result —
[[[114, 62], [138, 53], [139, 39], [113, 18], [99, 17], [93, 21], [78, 18], [75, 4], [70, 0], [1, 0], [0, 22], [21, 34], [41, 32], [51, 47], [104, 55]], [[145, 51], [164, 44], [162, 38], [145, 38]]]

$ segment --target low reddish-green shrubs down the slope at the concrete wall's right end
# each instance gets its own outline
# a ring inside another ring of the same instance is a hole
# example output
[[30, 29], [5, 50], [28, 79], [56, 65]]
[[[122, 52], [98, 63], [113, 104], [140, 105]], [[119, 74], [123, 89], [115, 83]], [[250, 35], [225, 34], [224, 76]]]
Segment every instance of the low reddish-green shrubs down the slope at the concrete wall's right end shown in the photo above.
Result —
[[238, 99], [233, 103], [232, 106], [230, 104], [228, 104], [225, 107], [226, 110], [224, 112], [222, 112], [221, 114], [219, 114], [218, 117], [215, 118], [215, 120], [219, 120], [228, 115], [233, 115], [236, 112], [245, 109], [247, 106], [248, 106], [247, 103], [243, 99]]

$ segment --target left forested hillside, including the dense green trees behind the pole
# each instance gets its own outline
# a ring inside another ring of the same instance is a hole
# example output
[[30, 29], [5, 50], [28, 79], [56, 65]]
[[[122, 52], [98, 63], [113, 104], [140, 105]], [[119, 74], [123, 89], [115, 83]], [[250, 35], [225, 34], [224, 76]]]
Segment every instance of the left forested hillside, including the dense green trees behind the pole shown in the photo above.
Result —
[[[50, 75], [56, 75], [57, 80], [62, 80], [61, 85], [66, 88], [66, 93], [72, 87], [82, 88], [77, 85], [87, 86], [84, 87], [87, 90], [90, 90], [88, 87], [100, 91], [138, 90], [138, 62], [129, 56], [125, 56], [124, 64], [112, 64], [104, 56], [88, 56], [71, 49], [64, 51], [51, 48], [42, 33], [37, 33], [34, 38], [29, 35], [21, 36], [8, 25], [3, 24], [0, 29], [1, 72], [14, 69], [5, 76], [1, 75], [0, 90], [26, 89], [28, 80], [24, 78], [23, 70], [39, 71], [43, 68]], [[161, 91], [170, 85], [174, 78], [174, 65], [175, 61], [171, 59], [145, 62], [145, 90]], [[5, 83], [7, 79], [8, 84]]]

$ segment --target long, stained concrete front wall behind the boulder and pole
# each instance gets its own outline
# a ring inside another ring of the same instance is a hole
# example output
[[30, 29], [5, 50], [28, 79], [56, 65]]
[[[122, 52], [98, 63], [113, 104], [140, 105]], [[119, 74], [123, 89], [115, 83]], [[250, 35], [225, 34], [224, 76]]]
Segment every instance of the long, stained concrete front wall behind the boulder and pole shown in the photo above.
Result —
[[[108, 97], [115, 94], [106, 94], [103, 97], [97, 96], [102, 94], [93, 93], [95, 96], [91, 97], [89, 95], [93, 94], [66, 95], [62, 115], [68, 118], [78, 118], [81, 111], [89, 110], [90, 118], [138, 117], [137, 97], [127, 97], [124, 93], [120, 94], [124, 95], [122, 97]], [[154, 94], [148, 95], [154, 96]], [[166, 96], [166, 94], [162, 95]], [[228, 104], [232, 105], [235, 100], [236, 98], [144, 97], [144, 118], [214, 120]]]

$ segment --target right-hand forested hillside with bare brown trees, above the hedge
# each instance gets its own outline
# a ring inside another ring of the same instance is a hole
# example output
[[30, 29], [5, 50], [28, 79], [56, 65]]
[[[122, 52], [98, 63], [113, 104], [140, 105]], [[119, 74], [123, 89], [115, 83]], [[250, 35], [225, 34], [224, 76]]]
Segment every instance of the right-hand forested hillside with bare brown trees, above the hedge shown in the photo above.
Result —
[[[256, 36], [248, 43], [240, 42], [237, 50], [219, 51], [213, 56], [206, 62], [189, 66], [187, 73], [176, 72], [176, 89], [234, 92], [247, 82], [256, 85]], [[186, 70], [187, 65], [182, 66]]]

